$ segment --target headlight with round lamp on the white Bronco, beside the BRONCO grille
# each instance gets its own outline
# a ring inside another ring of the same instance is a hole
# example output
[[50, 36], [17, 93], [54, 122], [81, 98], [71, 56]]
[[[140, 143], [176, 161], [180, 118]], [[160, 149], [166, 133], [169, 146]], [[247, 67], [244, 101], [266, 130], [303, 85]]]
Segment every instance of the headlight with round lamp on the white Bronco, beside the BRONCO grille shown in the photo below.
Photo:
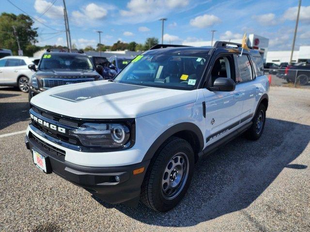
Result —
[[124, 124], [84, 123], [69, 133], [87, 147], [120, 148], [130, 138], [129, 128]]

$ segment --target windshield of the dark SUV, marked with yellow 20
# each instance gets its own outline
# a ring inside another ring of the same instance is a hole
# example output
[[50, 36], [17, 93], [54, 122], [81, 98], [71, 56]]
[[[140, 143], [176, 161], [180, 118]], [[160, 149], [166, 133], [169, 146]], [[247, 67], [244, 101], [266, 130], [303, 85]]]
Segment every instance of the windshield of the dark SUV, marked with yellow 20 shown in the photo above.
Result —
[[40, 63], [40, 70], [93, 70], [87, 56], [77, 54], [45, 54]]

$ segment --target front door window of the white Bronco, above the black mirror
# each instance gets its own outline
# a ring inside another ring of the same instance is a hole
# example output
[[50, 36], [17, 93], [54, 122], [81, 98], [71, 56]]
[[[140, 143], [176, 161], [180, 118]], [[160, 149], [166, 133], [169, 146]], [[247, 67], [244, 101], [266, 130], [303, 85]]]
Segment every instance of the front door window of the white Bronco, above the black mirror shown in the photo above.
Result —
[[211, 71], [212, 85], [218, 77], [227, 77], [235, 80], [233, 72], [233, 58], [231, 56], [223, 56], [216, 59]]

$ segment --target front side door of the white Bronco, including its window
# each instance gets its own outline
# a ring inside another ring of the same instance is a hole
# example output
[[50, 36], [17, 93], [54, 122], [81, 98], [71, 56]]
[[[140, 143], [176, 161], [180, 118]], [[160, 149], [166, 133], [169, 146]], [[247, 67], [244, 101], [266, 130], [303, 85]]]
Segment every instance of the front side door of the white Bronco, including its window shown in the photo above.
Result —
[[[233, 55], [218, 55], [211, 66], [207, 86], [212, 86], [218, 77], [235, 80]], [[236, 86], [231, 92], [210, 91], [203, 88], [206, 106], [206, 143], [210, 145], [234, 131], [242, 114], [244, 90]]]

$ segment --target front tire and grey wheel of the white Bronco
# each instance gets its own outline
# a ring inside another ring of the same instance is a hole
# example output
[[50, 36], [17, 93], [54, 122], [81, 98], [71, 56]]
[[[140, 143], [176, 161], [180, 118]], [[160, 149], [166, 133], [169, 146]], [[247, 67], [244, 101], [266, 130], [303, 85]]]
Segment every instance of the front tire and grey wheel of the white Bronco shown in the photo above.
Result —
[[193, 173], [191, 145], [184, 139], [171, 137], [151, 161], [141, 186], [141, 202], [155, 211], [171, 210], [186, 194]]

